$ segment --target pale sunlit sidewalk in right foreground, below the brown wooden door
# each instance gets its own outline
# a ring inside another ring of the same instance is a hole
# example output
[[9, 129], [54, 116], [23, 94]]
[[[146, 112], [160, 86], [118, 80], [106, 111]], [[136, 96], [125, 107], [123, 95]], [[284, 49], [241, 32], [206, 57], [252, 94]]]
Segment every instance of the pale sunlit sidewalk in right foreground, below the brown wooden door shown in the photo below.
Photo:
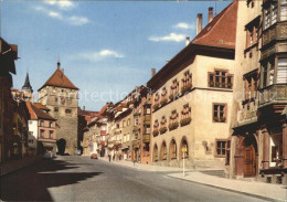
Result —
[[168, 176], [272, 201], [287, 201], [287, 187], [285, 185], [219, 178], [198, 171], [187, 172], [185, 174], [185, 177], [183, 177], [182, 173], [172, 173]]

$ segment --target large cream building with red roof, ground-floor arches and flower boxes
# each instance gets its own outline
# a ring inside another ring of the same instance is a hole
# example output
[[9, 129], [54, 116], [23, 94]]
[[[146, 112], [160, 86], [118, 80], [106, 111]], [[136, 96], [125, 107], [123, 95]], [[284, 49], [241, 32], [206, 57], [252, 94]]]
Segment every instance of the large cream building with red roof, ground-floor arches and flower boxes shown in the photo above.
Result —
[[153, 164], [224, 168], [230, 134], [237, 2], [232, 2], [147, 84]]

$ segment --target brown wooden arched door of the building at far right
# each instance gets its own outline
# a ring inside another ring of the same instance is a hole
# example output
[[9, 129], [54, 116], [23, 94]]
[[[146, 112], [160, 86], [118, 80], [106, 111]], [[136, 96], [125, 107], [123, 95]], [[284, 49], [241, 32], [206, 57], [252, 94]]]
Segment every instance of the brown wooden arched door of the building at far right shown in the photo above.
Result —
[[255, 177], [256, 159], [255, 149], [252, 146], [245, 147], [244, 150], [244, 177]]

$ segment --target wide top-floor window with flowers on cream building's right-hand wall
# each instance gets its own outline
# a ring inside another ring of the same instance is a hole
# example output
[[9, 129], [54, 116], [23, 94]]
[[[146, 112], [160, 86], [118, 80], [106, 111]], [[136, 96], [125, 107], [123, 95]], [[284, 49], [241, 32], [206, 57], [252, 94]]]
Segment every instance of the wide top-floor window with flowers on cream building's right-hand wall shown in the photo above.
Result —
[[209, 73], [209, 87], [232, 88], [233, 75], [227, 71]]

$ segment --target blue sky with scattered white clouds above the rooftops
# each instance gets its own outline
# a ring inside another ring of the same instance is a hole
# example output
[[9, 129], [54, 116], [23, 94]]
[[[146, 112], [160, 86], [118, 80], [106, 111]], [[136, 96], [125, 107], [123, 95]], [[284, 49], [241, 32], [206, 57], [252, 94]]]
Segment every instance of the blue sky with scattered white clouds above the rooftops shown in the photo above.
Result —
[[61, 67], [79, 88], [78, 105], [99, 110], [118, 102], [195, 36], [196, 14], [231, 1], [2, 0], [1, 36], [18, 45], [13, 88], [26, 72], [38, 89]]

